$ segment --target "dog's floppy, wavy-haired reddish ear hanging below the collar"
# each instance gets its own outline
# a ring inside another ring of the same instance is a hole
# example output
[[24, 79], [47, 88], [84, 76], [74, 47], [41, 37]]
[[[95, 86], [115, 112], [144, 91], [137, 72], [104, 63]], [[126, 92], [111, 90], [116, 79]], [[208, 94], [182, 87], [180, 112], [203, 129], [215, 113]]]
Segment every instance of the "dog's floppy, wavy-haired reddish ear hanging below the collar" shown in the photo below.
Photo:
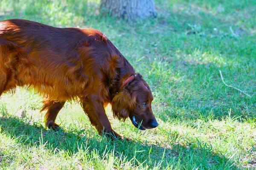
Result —
[[112, 111], [113, 116], [119, 120], [125, 121], [128, 118], [129, 113], [134, 111], [136, 108], [136, 97], [132, 97], [131, 94], [122, 89], [118, 94], [116, 94], [112, 101]]

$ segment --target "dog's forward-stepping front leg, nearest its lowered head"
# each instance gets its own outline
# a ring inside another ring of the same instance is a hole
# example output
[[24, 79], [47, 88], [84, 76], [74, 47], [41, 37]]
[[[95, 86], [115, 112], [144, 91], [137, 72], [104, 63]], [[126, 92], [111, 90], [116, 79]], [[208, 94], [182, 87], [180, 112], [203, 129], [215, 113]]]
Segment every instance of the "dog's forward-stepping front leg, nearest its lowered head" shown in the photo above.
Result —
[[111, 137], [111, 139], [121, 139], [121, 136], [116, 133], [108, 120], [103, 106], [103, 101], [99, 95], [91, 94], [80, 98], [81, 106], [84, 112], [90, 119], [93, 126], [96, 127], [99, 134]]

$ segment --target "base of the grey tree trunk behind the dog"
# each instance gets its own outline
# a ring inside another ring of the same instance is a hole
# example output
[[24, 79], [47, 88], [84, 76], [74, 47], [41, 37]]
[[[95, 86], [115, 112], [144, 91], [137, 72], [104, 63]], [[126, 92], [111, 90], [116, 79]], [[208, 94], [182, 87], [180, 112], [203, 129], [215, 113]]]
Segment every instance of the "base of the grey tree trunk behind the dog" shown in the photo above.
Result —
[[100, 11], [128, 21], [157, 16], [154, 0], [101, 0]]

